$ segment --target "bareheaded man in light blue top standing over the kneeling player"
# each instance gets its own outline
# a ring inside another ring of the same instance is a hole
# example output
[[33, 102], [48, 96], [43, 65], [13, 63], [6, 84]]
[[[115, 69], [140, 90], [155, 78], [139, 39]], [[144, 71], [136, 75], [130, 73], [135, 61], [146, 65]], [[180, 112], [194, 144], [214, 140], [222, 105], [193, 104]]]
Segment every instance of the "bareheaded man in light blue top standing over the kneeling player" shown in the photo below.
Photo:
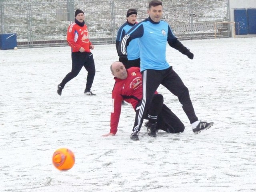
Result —
[[[132, 140], [138, 140], [138, 132], [142, 126], [143, 118], [148, 110], [148, 106], [152, 101], [154, 92], [158, 86], [162, 84], [172, 94], [176, 95], [182, 105], [182, 108], [190, 123], [194, 133], [201, 132], [213, 125], [213, 122], [207, 123], [199, 121], [190, 100], [188, 88], [184, 85], [181, 78], [172, 69], [172, 66], [166, 62], [166, 43], [177, 49], [182, 54], [193, 59], [194, 54], [190, 52], [172, 33], [167, 22], [162, 18], [162, 2], [152, 0], [148, 5], [149, 17], [144, 21], [132, 27], [128, 33], [122, 38], [118, 46], [119, 61], [124, 64], [127, 62], [129, 52], [127, 46], [134, 39], [138, 39], [140, 47], [140, 70], [143, 78], [143, 98], [138, 104], [136, 110], [136, 119], [131, 134]], [[156, 117], [149, 117], [151, 132], [156, 131]], [[152, 134], [155, 135], [155, 134]]]

